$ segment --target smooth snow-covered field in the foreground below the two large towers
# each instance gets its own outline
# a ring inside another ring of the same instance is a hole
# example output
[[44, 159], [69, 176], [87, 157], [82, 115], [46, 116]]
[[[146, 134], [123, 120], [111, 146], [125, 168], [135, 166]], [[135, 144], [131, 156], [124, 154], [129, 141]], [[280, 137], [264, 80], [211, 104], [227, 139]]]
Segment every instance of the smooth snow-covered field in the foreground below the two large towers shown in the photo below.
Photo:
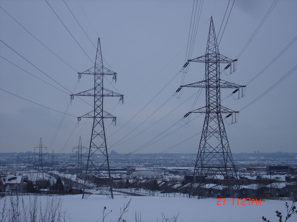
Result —
[[[123, 219], [135, 221], [135, 211], [141, 213], [141, 221], [162, 221], [161, 213], [167, 218], [178, 215], [177, 221], [262, 221], [265, 216], [270, 221], [278, 221], [275, 211], [279, 210], [285, 214], [285, 202], [281, 200], [261, 201], [261, 205], [236, 206], [232, 204], [232, 199], [226, 199], [225, 206], [217, 205], [217, 199], [189, 199], [174, 197], [127, 197], [114, 196], [109, 199], [104, 195], [91, 195], [87, 199], [81, 199], [81, 195], [62, 196], [62, 209], [67, 209], [70, 213], [71, 221], [102, 221], [102, 211], [106, 206], [105, 213], [110, 212], [105, 221], [117, 221], [120, 215], [120, 208], [131, 199], [128, 212], [124, 214]], [[29, 203], [29, 196], [23, 196]], [[39, 196], [40, 202], [45, 204], [46, 196]], [[8, 201], [8, 199], [7, 199]], [[287, 201], [291, 205], [292, 201]], [[0, 209], [4, 203], [4, 198], [0, 199]], [[236, 203], [237, 204], [237, 203]], [[292, 215], [289, 221], [296, 221], [297, 216]]]

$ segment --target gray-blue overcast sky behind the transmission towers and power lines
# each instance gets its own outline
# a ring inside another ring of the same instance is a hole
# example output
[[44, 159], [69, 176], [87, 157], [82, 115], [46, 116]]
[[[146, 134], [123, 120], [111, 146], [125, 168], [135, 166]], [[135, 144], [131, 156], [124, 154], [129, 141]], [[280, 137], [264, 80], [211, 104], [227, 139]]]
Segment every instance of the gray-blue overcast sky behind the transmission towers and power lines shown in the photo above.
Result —
[[[48, 0], [48, 2], [94, 61], [96, 50], [64, 2], [55, 0]], [[117, 116], [116, 127], [110, 126], [106, 131], [107, 144], [111, 147], [168, 99], [181, 84], [182, 75], [179, 74], [149, 106], [116, 132], [184, 65], [193, 1], [78, 1], [87, 17], [77, 1], [65, 0], [65, 2], [95, 45], [98, 36], [100, 37], [102, 55], [118, 73], [114, 86], [125, 95], [124, 105], [116, 106], [112, 112]], [[273, 1], [235, 0], [219, 45], [220, 53], [235, 59], [272, 3]], [[213, 16], [215, 30], [218, 33], [227, 4], [228, 0], [204, 1], [192, 58], [205, 54], [209, 18]], [[81, 72], [92, 66], [92, 62], [72, 39], [46, 1], [2, 0], [0, 6], [76, 71]], [[222, 74], [221, 78], [244, 85], [258, 74], [296, 36], [296, 10], [297, 1], [278, 1], [255, 38], [239, 58], [237, 71], [230, 76]], [[2, 9], [0, 9], [0, 26], [2, 41], [64, 87], [69, 90], [74, 89], [78, 79], [77, 72], [43, 47]], [[224, 100], [222, 105], [239, 110], [261, 95], [297, 65], [296, 46], [297, 41], [251, 82], [247, 86], [244, 98], [233, 100], [230, 97]], [[38, 78], [61, 88], [2, 42], [0, 42], [0, 55]], [[105, 66], [107, 66], [106, 63]], [[0, 58], [0, 72], [1, 89], [62, 112], [67, 108], [69, 94], [45, 84], [2, 58]], [[225, 125], [232, 152], [253, 152], [254, 150], [296, 152], [296, 74], [295, 71], [267, 95], [242, 110], [237, 124]], [[204, 64], [193, 63], [185, 76], [184, 84], [198, 82], [204, 75]], [[75, 93], [90, 89], [92, 82], [91, 76], [83, 76]], [[109, 83], [105, 81], [105, 86], [107, 85]], [[115, 89], [110, 87], [110, 90]], [[185, 88], [181, 98], [170, 99], [126, 139], [151, 126], [184, 102], [195, 90], [196, 88]], [[222, 98], [232, 91], [232, 89], [222, 89]], [[203, 90], [195, 108], [205, 106], [204, 93]], [[91, 98], [84, 99], [92, 103]], [[118, 99], [105, 98], [105, 110], [111, 112], [118, 103]], [[34, 151], [40, 137], [43, 145], [49, 146], [63, 114], [29, 103], [3, 91], [0, 91], [0, 100], [0, 152]], [[149, 130], [120, 146], [111, 147], [110, 150], [114, 149], [120, 153], [136, 150], [181, 119], [190, 111], [194, 100], [195, 96]], [[68, 113], [82, 116], [91, 110], [91, 106], [75, 98]], [[195, 114], [192, 114], [191, 119], [193, 118]], [[203, 121], [204, 115], [151, 146], [141, 149], [138, 153], [162, 152], [200, 132]], [[48, 149], [49, 152], [52, 149], [55, 153], [61, 151], [76, 123], [75, 117], [65, 117], [58, 135]], [[73, 139], [72, 142], [62, 152], [72, 152], [72, 147], [78, 145], [79, 135], [82, 136], [83, 145], [87, 146], [91, 136], [91, 121], [89, 120], [84, 126], [85, 123], [86, 119], [83, 119], [79, 127], [75, 128], [69, 140], [70, 142]], [[180, 121], [163, 135], [183, 124], [184, 122]], [[107, 121], [105, 125], [108, 127], [110, 122]], [[116, 133], [112, 135], [113, 132]], [[196, 153], [199, 141], [200, 134], [167, 152]]]

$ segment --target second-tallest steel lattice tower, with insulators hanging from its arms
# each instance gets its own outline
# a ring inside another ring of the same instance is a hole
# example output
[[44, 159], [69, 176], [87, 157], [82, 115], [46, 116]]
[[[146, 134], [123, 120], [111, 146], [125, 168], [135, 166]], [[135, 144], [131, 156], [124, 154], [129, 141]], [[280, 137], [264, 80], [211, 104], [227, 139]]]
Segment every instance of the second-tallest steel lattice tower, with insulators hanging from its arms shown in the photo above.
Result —
[[[107, 145], [106, 145], [104, 119], [111, 118], [113, 122], [116, 123], [116, 117], [103, 110], [103, 98], [105, 96], [111, 96], [111, 97], [119, 96], [121, 97], [120, 98], [121, 102], [123, 102], [124, 95], [110, 91], [103, 87], [104, 76], [113, 76], [113, 80], [115, 80], [116, 82], [116, 73], [103, 66], [100, 38], [98, 38], [97, 53], [96, 53], [96, 60], [95, 60], [94, 66], [78, 74], [79, 74], [79, 77], [81, 76], [81, 74], [94, 75], [94, 88], [71, 95], [72, 99], [74, 98], [75, 95], [94, 97], [94, 110], [92, 110], [91, 112], [83, 116], [78, 117], [78, 120], [80, 120], [80, 118], [93, 119], [92, 135], [91, 135], [91, 141], [89, 146], [89, 155], [88, 155], [85, 181], [84, 181], [84, 187], [83, 187], [83, 198], [85, 195], [86, 183], [88, 183], [87, 181], [89, 179], [93, 179], [93, 180], [97, 179], [100, 185], [108, 185], [109, 189], [106, 189], [106, 190], [100, 189], [100, 191], [103, 192], [108, 197], [113, 198], [112, 178], [110, 175], [110, 166], [109, 166], [108, 151], [107, 151]], [[91, 158], [92, 155], [95, 154], [96, 152], [99, 154], [103, 154], [104, 156], [104, 160], [98, 165], [95, 164], [94, 158], [93, 159]], [[91, 164], [91, 167], [90, 167], [90, 164]], [[91, 178], [90, 175], [93, 175], [93, 178]], [[95, 178], [94, 175], [98, 175], [99, 178], [98, 177]], [[105, 183], [105, 184], [102, 184], [102, 183]], [[94, 189], [94, 191], [95, 190], [96, 189]]]

